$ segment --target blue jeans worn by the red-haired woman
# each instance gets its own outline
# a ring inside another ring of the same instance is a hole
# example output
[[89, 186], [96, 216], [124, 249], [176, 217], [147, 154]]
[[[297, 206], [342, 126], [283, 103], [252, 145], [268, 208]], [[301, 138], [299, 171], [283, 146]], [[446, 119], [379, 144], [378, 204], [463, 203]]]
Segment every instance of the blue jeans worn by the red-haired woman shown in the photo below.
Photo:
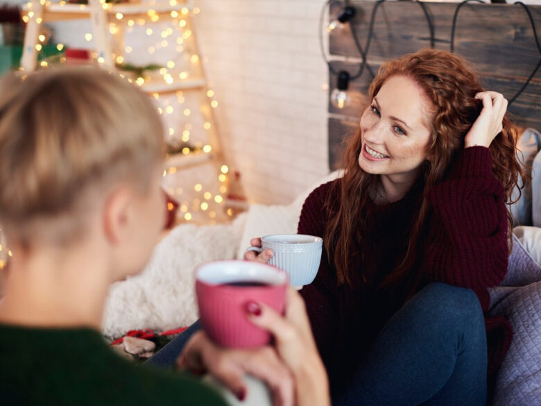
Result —
[[[196, 322], [148, 362], [171, 366]], [[470, 289], [431, 283], [394, 314], [335, 406], [485, 406], [483, 312]]]

